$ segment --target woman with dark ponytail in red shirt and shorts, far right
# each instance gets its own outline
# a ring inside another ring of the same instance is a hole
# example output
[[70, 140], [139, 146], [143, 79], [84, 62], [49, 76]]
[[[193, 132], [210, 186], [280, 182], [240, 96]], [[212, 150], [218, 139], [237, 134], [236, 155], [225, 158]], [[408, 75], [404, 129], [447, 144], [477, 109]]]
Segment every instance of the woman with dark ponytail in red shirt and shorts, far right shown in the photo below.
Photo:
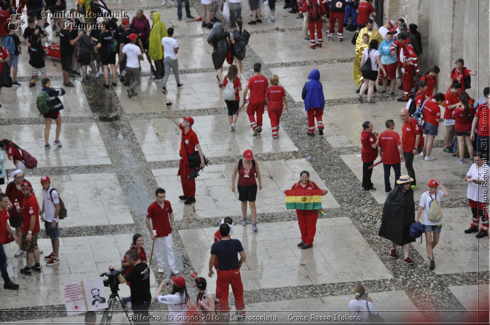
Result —
[[465, 157], [465, 143], [468, 148], [469, 161], [473, 163], [473, 142], [471, 142], [471, 122], [473, 121], [473, 114], [475, 108], [470, 105], [470, 98], [468, 93], [460, 93], [460, 106], [453, 110], [454, 117], [454, 133], [456, 138], [458, 138], [458, 150], [460, 159], [458, 163], [464, 163]]

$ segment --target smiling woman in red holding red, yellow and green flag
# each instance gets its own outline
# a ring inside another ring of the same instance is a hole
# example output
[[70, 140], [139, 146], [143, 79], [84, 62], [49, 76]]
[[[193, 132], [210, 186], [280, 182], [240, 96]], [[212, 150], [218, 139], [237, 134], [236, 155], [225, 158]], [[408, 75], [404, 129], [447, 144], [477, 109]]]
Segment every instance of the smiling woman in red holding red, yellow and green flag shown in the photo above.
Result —
[[303, 250], [313, 247], [313, 238], [317, 232], [318, 213], [323, 214], [321, 196], [327, 193], [328, 190], [320, 189], [315, 182], [310, 181], [310, 173], [306, 170], [299, 174], [298, 183], [294, 184], [291, 189], [284, 190], [286, 208], [296, 209], [299, 230], [301, 231], [301, 242], [298, 247]]

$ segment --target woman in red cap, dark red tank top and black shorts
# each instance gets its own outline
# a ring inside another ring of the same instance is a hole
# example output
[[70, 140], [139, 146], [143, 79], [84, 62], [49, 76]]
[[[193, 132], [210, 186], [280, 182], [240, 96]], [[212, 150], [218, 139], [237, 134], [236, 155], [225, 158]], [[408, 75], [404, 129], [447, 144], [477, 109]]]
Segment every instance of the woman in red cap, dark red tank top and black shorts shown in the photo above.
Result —
[[255, 199], [257, 197], [257, 182], [255, 181], [255, 177], [259, 180], [259, 190], [262, 190], [262, 182], [259, 164], [253, 159], [252, 150], [245, 150], [244, 158], [241, 158], [235, 163], [235, 168], [231, 175], [231, 191], [235, 193], [235, 178], [238, 173], [238, 199], [242, 202], [242, 214], [244, 217], [242, 226], [246, 226], [246, 204], [248, 202], [250, 214], [252, 215], [252, 229], [256, 232], [257, 225], [255, 221], [257, 218], [257, 207], [255, 206]]

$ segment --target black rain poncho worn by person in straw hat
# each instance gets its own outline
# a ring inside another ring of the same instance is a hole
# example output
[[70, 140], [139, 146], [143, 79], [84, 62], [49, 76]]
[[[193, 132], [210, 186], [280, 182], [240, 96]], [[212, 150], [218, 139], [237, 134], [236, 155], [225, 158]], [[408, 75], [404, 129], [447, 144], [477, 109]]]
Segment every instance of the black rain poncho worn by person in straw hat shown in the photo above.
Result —
[[409, 188], [403, 193], [401, 188], [395, 186], [388, 194], [378, 233], [399, 246], [415, 242], [410, 236], [410, 225], [415, 222], [414, 190]]

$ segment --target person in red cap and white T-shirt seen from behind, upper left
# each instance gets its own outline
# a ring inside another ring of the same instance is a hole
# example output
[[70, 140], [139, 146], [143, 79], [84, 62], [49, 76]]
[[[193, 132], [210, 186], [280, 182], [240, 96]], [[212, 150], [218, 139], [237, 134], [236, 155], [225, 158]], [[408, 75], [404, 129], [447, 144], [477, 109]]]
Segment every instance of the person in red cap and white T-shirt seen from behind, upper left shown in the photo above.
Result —
[[129, 98], [138, 95], [138, 93], [135, 93], [135, 89], [141, 80], [140, 61], [143, 59], [143, 56], [141, 47], [136, 45], [137, 40], [138, 35], [135, 33], [129, 34], [129, 43], [123, 46], [119, 55], [119, 62], [116, 65], [117, 69], [119, 64], [124, 60], [124, 57], [127, 57], [126, 75], [124, 78], [126, 82], [129, 82], [129, 88], [127, 89], [127, 96]]

